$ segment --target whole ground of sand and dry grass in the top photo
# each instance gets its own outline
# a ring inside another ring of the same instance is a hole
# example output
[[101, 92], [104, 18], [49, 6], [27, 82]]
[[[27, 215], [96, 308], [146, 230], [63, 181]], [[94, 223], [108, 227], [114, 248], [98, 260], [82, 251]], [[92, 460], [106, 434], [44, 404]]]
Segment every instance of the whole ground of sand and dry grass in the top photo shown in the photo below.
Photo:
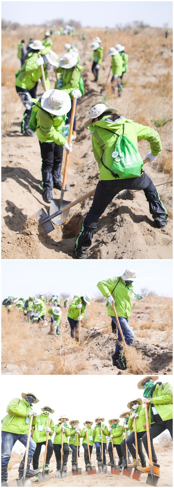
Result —
[[[39, 36], [39, 28], [33, 28], [34, 37], [36, 37], [36, 31]], [[104, 31], [101, 30], [98, 33], [103, 39], [104, 46], [100, 82], [105, 82], [111, 61], [106, 55], [106, 51], [113, 44], [113, 36], [105, 36]], [[97, 185], [99, 172], [92, 152], [91, 133], [84, 128], [88, 110], [92, 106], [102, 102], [106, 106], [118, 107], [119, 112], [127, 118], [154, 128], [156, 128], [153, 122], [155, 119], [166, 117], [167, 123], [157, 128], [162, 140], [161, 155], [153, 165], [146, 163], [144, 169], [155, 185], [162, 184], [157, 189], [169, 210], [168, 224], [163, 229], [154, 227], [152, 216], [149, 213], [149, 204], [143, 191], [120, 193], [99, 219], [88, 258], [170, 259], [172, 258], [172, 190], [170, 186], [163, 185], [163, 183], [171, 181], [171, 176], [169, 169], [167, 169], [167, 173], [160, 171], [160, 161], [165, 160], [167, 165], [172, 158], [172, 123], [169, 119], [170, 71], [166, 81], [166, 69], [171, 69], [172, 62], [171, 41], [169, 39], [165, 48], [163, 47], [165, 56], [162, 56], [160, 51], [160, 48], [162, 49], [160, 46], [164, 44], [162, 29], [146, 28], [143, 33], [139, 31], [136, 35], [136, 49], [134, 32], [124, 32], [130, 61], [128, 73], [125, 75], [126, 84], [123, 95], [121, 99], [118, 99], [111, 92], [110, 82], [107, 92], [102, 95], [100, 94], [101, 86], [97, 86], [93, 82], [92, 51], [89, 45], [94, 35], [97, 34], [97, 30], [94, 32], [93, 29], [87, 29], [87, 34], [87, 40], [77, 41], [81, 64], [84, 67], [82, 77], [85, 84], [85, 96], [79, 101], [77, 107], [77, 140], [73, 142], [73, 153], [70, 154], [67, 175], [69, 191], [65, 193], [64, 198], [73, 202], [81, 195], [95, 189]], [[12, 36], [14, 37], [14, 35], [16, 34], [13, 32]], [[5, 50], [5, 53], [2, 54], [4, 68], [7, 63], [7, 53], [9, 60], [14, 59], [13, 48], [6, 48], [5, 36], [4, 34], [2, 40], [3, 50]], [[117, 37], [118, 33], [114, 36]], [[147, 49], [149, 37], [153, 39], [152, 49]], [[64, 52], [63, 45], [66, 41], [68, 41], [68, 36], [67, 38], [64, 36], [61, 40], [54, 38], [53, 48], [58, 52], [59, 57]], [[6, 69], [9, 70], [9, 65], [8, 68], [6, 66]], [[13, 100], [13, 110], [11, 106], [5, 107], [5, 113], [2, 110], [3, 117], [10, 121], [7, 123], [2, 139], [2, 258], [74, 259], [75, 238], [93, 197], [70, 209], [67, 222], [57, 226], [50, 235], [47, 235], [41, 225], [31, 218], [41, 207], [48, 213], [49, 205], [43, 202], [41, 196], [41, 157], [37, 135], [27, 138], [20, 134], [23, 106], [14, 86], [14, 73], [17, 69], [19, 69], [18, 61], [11, 66], [12, 73], [9, 73], [8, 83], [6, 79], [2, 83], [2, 95], [5, 98], [7, 93], [11, 93]], [[161, 91], [160, 84], [164, 76], [165, 83], [167, 83], [165, 93]], [[51, 77], [51, 88], [54, 88], [54, 73], [51, 74]], [[38, 96], [41, 93], [43, 93], [43, 89], [39, 84]], [[8, 113], [10, 108], [13, 112], [11, 115]], [[138, 147], [144, 158], [150, 150], [149, 143], [139, 141]], [[65, 154], [62, 173], [64, 161]], [[54, 198], [60, 198], [58, 190], [53, 190], [53, 195]]]

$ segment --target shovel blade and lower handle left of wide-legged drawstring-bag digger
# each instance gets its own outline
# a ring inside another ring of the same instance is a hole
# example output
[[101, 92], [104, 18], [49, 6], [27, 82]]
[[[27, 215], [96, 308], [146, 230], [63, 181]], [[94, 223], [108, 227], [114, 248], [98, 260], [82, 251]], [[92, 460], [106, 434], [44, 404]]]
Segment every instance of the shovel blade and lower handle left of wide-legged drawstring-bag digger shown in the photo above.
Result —
[[89, 191], [89, 193], [86, 193], [83, 197], [77, 198], [77, 200], [70, 203], [69, 205], [66, 205], [64, 208], [58, 210], [53, 215], [47, 215], [45, 210], [43, 210], [43, 208], [40, 208], [38, 210], [38, 212], [36, 212], [35, 214], [32, 215], [32, 217], [35, 217], [39, 221], [39, 224], [43, 225], [45, 232], [47, 234], [49, 234], [52, 230], [55, 229], [53, 227], [53, 224], [51, 223], [51, 220], [54, 217], [57, 217], [61, 213], [65, 212], [65, 210], [68, 210], [69, 208], [74, 207], [74, 205], [77, 205], [77, 203], [83, 202], [83, 200], [86, 200], [86, 198], [92, 197], [92, 195], [94, 195], [95, 191], [96, 191], [96, 189]]

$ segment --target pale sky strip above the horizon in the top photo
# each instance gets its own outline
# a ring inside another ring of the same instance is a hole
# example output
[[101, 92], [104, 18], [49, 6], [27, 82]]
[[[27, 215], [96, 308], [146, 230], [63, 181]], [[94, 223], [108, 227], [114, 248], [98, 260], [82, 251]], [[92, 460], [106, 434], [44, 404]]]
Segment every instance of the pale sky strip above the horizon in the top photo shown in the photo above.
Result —
[[[91, 0], [89, 0], [91, 1]], [[20, 24], [40, 24], [45, 20], [70, 19], [83, 27], [115, 27], [143, 20], [153, 27], [172, 27], [172, 1], [2, 1], [1, 17]], [[66, 3], [66, 6], [65, 6]], [[32, 5], [34, 4], [34, 5]]]

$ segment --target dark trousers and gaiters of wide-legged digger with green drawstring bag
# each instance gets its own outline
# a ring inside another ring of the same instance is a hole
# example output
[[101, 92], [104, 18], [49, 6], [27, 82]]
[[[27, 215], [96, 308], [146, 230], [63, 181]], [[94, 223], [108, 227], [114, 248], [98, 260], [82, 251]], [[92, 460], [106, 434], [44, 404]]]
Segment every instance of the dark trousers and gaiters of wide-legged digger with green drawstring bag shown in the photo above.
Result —
[[82, 229], [76, 238], [76, 255], [80, 250], [86, 252], [86, 249], [91, 246], [94, 230], [97, 228], [99, 218], [109, 203], [116, 197], [117, 193], [125, 189], [143, 190], [145, 197], [149, 202], [149, 210], [153, 219], [160, 217], [166, 222], [166, 209], [159, 199], [154, 183], [146, 173], [143, 172], [138, 178], [99, 181], [97, 183], [91, 208], [89, 209], [89, 212], [82, 223]]

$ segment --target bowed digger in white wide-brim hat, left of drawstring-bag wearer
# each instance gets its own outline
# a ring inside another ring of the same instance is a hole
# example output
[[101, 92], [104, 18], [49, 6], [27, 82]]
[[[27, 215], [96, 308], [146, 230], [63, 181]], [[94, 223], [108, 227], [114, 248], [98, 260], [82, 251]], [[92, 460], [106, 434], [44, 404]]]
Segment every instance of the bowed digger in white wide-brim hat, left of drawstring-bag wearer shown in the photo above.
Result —
[[[75, 98], [81, 96], [79, 90], [69, 92]], [[70, 109], [70, 96], [65, 91], [57, 89], [47, 90], [41, 99], [33, 100], [30, 127], [37, 131], [39, 139], [42, 158], [42, 198], [46, 203], [50, 203], [53, 198], [53, 188], [61, 190], [63, 148], [72, 152], [72, 143], [69, 146], [65, 139], [69, 133], [66, 117]], [[68, 186], [65, 185], [65, 191], [67, 190]]]

